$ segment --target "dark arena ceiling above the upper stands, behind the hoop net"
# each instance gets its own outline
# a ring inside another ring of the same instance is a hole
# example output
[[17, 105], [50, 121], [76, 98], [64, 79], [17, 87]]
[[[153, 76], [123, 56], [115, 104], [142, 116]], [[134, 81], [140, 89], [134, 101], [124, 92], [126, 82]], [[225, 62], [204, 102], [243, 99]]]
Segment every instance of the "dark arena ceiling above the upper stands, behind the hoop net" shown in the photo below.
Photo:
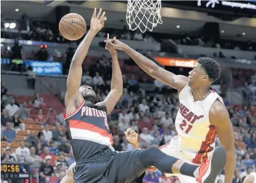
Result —
[[[70, 6], [71, 12], [85, 17], [87, 23], [90, 20], [92, 8], [102, 7], [106, 10], [106, 15], [108, 16], [106, 27], [122, 28], [126, 25], [125, 3], [85, 1], [80, 5], [67, 2], [61, 5]], [[16, 8], [19, 8], [19, 12], [15, 11]], [[46, 6], [44, 1], [1, 1], [1, 12], [4, 18], [19, 18], [25, 13], [33, 19], [56, 21], [54, 7]], [[235, 21], [222, 21], [201, 12], [165, 7], [162, 8], [161, 15], [163, 17], [163, 25], [158, 25], [154, 28], [154, 32], [191, 34], [201, 30], [206, 22], [218, 22], [220, 23], [220, 32], [224, 30], [224, 33], [220, 34], [222, 38], [256, 41], [256, 18], [241, 17]], [[176, 28], [177, 25], [180, 25], [180, 28]], [[241, 36], [242, 32], [245, 32], [246, 35]]]

